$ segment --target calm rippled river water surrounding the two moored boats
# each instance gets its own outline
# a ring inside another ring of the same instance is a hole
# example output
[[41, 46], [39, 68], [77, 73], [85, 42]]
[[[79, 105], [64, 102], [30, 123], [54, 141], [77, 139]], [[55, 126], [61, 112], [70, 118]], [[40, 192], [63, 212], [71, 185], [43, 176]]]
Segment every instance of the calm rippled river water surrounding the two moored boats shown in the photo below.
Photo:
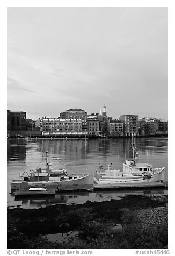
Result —
[[[9, 207], [39, 208], [56, 203], [77, 204], [90, 201], [120, 199], [127, 194], [148, 196], [167, 194], [166, 190], [103, 191], [96, 193], [61, 193], [55, 198], [24, 199], [16, 201], [11, 195], [10, 182], [19, 177], [19, 172], [32, 168], [45, 168], [45, 153], [51, 168], [65, 168], [69, 173], [90, 174], [93, 181], [94, 169], [99, 162], [104, 166], [113, 163], [113, 168], [123, 169], [123, 162], [132, 159], [131, 139], [8, 139], [7, 148], [7, 202]], [[154, 167], [165, 167], [164, 181], [168, 177], [168, 140], [161, 138], [137, 138], [138, 162], [147, 162]]]

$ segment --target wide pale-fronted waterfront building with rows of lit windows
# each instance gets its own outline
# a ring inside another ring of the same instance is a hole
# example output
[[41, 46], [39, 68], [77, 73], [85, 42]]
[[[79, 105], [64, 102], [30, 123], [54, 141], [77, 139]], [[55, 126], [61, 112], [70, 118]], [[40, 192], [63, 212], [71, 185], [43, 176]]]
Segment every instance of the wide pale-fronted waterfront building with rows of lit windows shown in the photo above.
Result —
[[86, 136], [87, 120], [76, 118], [42, 118], [40, 130], [43, 136]]

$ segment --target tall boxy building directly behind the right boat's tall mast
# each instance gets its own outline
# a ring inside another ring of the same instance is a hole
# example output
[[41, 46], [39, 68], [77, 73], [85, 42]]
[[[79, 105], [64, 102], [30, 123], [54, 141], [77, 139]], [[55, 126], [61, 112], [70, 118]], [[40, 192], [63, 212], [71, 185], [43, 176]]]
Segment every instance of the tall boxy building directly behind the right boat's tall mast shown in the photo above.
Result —
[[138, 135], [138, 116], [137, 115], [121, 115], [119, 120], [123, 123], [123, 135]]

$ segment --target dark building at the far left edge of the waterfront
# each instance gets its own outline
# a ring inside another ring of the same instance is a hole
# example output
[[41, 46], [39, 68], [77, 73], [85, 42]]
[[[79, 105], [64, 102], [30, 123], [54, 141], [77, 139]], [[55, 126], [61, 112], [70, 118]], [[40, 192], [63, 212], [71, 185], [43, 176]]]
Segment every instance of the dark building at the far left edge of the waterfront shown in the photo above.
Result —
[[10, 112], [11, 131], [26, 130], [26, 112]]

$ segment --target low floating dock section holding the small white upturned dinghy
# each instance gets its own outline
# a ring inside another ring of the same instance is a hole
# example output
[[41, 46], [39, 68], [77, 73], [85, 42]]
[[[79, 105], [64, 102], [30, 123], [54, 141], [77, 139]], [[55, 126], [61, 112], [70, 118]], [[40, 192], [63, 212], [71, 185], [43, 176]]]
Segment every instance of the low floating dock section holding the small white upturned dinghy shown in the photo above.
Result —
[[46, 191], [31, 191], [28, 189], [19, 189], [14, 192], [15, 197], [31, 197], [31, 196], [55, 196], [55, 189], [48, 188]]

